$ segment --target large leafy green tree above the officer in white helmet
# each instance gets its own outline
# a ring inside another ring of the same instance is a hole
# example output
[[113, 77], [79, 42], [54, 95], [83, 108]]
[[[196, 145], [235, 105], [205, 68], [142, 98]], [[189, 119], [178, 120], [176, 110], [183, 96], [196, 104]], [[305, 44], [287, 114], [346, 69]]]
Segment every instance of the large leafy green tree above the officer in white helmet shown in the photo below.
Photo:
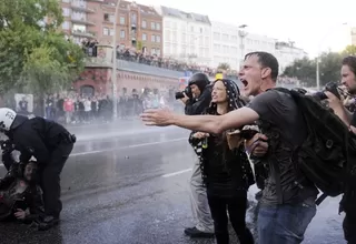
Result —
[[58, 31], [62, 19], [57, 0], [0, 2], [0, 94], [10, 89], [48, 93], [81, 72], [83, 52]]

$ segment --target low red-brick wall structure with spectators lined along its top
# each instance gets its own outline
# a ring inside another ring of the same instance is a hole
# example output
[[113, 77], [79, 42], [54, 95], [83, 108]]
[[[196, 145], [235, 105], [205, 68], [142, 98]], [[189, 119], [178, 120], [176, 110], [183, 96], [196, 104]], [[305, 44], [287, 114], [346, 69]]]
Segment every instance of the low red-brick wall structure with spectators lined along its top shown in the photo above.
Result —
[[[85, 71], [75, 81], [73, 88], [79, 93], [108, 94], [112, 91], [112, 47], [98, 45], [98, 57], [88, 58]], [[184, 72], [158, 67], [118, 60], [117, 88], [118, 94], [126, 88], [128, 91], [145, 88], [168, 90], [178, 87]]]

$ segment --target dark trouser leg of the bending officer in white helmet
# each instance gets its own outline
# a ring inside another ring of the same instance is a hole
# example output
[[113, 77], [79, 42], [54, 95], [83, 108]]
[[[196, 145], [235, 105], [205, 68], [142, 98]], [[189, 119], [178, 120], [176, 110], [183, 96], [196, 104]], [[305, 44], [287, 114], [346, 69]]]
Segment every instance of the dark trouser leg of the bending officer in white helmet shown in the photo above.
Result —
[[71, 143], [59, 144], [51, 153], [50, 162], [47, 162], [47, 164], [40, 169], [46, 215], [59, 217], [62, 211], [62, 203], [60, 201], [60, 173], [72, 149], [73, 144]]

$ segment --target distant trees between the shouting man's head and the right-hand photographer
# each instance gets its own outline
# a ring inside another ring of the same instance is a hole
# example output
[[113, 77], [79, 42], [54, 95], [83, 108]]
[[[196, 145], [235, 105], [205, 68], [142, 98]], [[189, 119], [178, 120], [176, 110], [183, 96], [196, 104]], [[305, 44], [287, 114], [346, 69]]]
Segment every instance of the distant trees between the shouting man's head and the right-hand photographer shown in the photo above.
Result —
[[[356, 54], [355, 45], [347, 45], [340, 53], [325, 52], [319, 55], [319, 78], [322, 85], [340, 79], [342, 60], [349, 54]], [[316, 60], [308, 58], [295, 60], [293, 64], [285, 69], [284, 75], [298, 78], [303, 83], [306, 83], [306, 85], [315, 87]]]

